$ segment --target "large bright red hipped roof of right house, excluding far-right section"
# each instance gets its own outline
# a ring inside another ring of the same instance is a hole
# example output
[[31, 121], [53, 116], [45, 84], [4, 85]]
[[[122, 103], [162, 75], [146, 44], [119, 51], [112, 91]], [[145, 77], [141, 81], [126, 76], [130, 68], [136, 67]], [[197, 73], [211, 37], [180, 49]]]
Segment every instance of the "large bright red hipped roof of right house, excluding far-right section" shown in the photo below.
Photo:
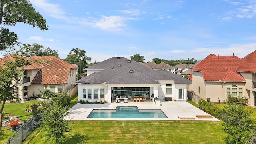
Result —
[[205, 81], [245, 82], [245, 79], [236, 71], [241, 61], [237, 56], [210, 54], [192, 70], [201, 71]]

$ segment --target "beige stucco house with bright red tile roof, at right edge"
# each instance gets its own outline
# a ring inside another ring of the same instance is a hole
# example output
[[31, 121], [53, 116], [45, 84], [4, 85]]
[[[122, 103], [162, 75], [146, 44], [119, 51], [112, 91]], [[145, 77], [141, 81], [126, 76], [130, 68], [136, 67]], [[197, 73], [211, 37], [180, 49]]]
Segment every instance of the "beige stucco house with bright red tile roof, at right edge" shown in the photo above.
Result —
[[249, 98], [256, 104], [256, 51], [240, 59], [237, 56], [210, 54], [192, 68], [188, 76], [192, 80], [191, 91], [212, 102], [228, 99], [228, 95]]

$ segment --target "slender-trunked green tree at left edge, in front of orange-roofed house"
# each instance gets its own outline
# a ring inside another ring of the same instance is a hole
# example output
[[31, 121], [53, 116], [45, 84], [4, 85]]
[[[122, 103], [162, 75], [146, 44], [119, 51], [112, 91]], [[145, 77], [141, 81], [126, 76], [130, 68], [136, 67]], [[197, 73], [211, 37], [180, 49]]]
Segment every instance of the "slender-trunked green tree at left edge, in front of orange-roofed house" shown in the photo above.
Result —
[[5, 61], [4, 66], [0, 66], [0, 101], [3, 101], [0, 109], [0, 131], [2, 131], [2, 112], [4, 105], [7, 100], [18, 98], [18, 86], [22, 84], [21, 75], [23, 74], [24, 66], [30, 65], [30, 61], [25, 60], [17, 54], [11, 56], [14, 61]]

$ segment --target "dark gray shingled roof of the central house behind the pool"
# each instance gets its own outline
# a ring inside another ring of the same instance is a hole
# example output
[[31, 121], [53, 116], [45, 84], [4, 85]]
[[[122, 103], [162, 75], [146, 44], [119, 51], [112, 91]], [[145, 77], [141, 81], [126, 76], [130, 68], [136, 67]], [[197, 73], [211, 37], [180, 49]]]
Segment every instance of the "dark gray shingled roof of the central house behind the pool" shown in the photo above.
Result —
[[[122, 58], [122, 57], [121, 57]], [[113, 62], [108, 59], [109, 62]], [[76, 83], [83, 84], [160, 84], [157, 80], [174, 80], [176, 84], [190, 84], [189, 80], [168, 72], [166, 70], [153, 70], [135, 62], [123, 58], [119, 62], [113, 64], [104, 70], [97, 72], [95, 74], [90, 74]], [[114, 63], [113, 62], [113, 63]], [[106, 62], [98, 63], [100, 65], [106, 64]], [[96, 66], [94, 68], [102, 68], [102, 66]], [[109, 65], [109, 64], [108, 64]], [[119, 65], [119, 66], [118, 66]], [[89, 67], [90, 68], [90, 67]], [[133, 72], [130, 73], [130, 70]]]

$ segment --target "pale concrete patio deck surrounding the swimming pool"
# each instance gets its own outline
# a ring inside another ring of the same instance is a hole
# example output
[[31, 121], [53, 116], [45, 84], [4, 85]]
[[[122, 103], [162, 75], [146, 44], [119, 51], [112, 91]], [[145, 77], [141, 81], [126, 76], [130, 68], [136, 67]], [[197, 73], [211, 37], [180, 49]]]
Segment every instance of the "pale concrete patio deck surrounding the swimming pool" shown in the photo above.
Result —
[[[138, 109], [161, 109], [168, 118], [87, 118], [93, 109], [116, 109], [116, 106], [137, 106]], [[210, 116], [208, 113], [184, 101], [164, 101], [156, 106], [152, 101], [146, 102], [120, 102], [110, 104], [76, 104], [68, 110], [71, 120], [208, 120], [220, 121], [217, 118], [198, 118], [196, 115]], [[180, 119], [180, 118], [194, 119]], [[68, 119], [68, 118], [67, 118]]]

